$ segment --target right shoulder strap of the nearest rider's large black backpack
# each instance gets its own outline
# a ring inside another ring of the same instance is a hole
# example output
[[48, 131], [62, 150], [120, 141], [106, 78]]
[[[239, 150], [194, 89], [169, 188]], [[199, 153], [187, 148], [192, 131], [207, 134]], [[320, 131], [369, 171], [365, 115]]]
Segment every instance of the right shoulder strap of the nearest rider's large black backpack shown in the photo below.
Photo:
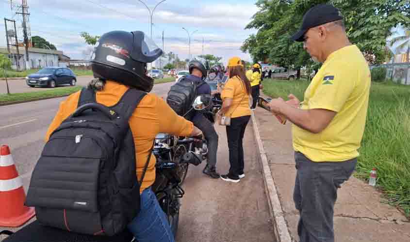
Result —
[[[131, 118], [132, 113], [134, 112], [135, 108], [138, 106], [140, 101], [147, 95], [147, 92], [139, 91], [133, 88], [128, 89], [124, 95], [121, 97], [121, 100], [118, 103], [122, 102], [121, 105], [121, 112], [120, 114], [124, 115], [126, 120]], [[155, 140], [154, 140], [155, 142]], [[144, 170], [142, 171], [141, 180], [138, 183], [141, 185], [142, 181], [144, 180], [145, 173], [148, 168], [149, 160], [151, 159], [152, 150], [154, 149], [154, 143], [152, 144], [151, 150], [149, 151], [149, 155], [147, 158], [147, 162], [145, 163]], [[138, 162], [138, 161], [137, 161]]]

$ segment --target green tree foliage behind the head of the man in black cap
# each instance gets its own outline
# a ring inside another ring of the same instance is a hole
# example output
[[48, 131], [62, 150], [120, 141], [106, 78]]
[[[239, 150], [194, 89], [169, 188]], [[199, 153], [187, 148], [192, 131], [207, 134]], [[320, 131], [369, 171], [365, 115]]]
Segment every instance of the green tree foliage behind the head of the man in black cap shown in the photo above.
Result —
[[[386, 37], [398, 23], [410, 23], [408, 0], [258, 0], [260, 8], [246, 29], [257, 29], [243, 45], [253, 61], [268, 60], [298, 69], [312, 65], [303, 44], [290, 39], [301, 25], [303, 15], [314, 5], [332, 3], [344, 15], [350, 41], [375, 62], [385, 60]], [[316, 69], [316, 68], [314, 68]]]

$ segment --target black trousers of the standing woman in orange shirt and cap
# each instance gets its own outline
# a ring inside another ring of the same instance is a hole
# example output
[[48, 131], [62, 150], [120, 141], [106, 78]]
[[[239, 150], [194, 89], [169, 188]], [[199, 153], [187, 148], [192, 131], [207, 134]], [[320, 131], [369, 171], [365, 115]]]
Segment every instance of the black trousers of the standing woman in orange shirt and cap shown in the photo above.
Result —
[[232, 118], [230, 126], [226, 126], [229, 148], [229, 173], [232, 178], [239, 178], [244, 173], [244, 135], [250, 116]]

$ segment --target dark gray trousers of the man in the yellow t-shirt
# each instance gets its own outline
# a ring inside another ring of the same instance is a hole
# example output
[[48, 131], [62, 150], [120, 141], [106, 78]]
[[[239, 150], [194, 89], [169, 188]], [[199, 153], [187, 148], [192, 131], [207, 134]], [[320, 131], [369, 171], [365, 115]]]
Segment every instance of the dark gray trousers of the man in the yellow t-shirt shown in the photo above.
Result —
[[313, 162], [295, 152], [296, 181], [293, 199], [300, 218], [300, 242], [334, 242], [333, 208], [337, 189], [355, 170], [357, 159]]

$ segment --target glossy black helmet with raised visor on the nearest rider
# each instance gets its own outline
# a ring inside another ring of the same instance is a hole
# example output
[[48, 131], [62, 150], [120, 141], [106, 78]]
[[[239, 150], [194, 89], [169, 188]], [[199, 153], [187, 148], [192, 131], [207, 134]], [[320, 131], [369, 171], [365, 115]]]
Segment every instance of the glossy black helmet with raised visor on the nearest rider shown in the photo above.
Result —
[[142, 31], [110, 31], [99, 38], [91, 57], [94, 77], [151, 91], [154, 79], [147, 76], [147, 62], [163, 51]]

